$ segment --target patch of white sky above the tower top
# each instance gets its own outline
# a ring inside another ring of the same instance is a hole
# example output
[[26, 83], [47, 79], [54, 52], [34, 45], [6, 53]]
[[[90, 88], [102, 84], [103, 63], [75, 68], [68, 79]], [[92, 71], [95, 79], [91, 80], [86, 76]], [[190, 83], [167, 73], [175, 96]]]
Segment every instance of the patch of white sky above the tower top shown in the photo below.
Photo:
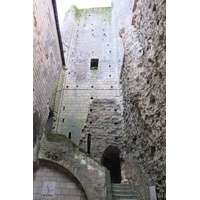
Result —
[[79, 9], [111, 6], [111, 0], [56, 0], [56, 3], [60, 29], [65, 13], [69, 10], [71, 5], [75, 5]]

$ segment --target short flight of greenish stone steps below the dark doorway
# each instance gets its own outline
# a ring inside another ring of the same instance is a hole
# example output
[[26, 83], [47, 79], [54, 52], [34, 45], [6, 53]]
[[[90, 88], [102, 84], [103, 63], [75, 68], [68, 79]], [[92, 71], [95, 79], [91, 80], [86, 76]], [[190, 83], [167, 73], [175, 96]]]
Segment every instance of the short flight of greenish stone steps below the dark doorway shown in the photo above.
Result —
[[112, 183], [113, 200], [139, 200], [131, 184]]

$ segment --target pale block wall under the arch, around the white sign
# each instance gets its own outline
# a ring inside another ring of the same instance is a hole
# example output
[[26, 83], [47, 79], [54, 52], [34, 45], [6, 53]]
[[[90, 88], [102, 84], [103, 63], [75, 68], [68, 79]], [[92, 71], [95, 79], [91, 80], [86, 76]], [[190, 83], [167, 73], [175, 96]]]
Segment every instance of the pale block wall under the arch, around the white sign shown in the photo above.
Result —
[[[45, 182], [55, 183], [53, 195], [42, 193]], [[56, 163], [40, 160], [39, 168], [33, 173], [33, 199], [87, 200], [87, 196], [80, 182], [67, 169]]]

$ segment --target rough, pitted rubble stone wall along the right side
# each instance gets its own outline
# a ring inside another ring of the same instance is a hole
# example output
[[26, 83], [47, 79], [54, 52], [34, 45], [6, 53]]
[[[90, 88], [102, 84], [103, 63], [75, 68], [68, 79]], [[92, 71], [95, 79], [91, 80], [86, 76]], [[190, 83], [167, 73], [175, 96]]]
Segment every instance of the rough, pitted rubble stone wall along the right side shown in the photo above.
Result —
[[166, 198], [165, 4], [135, 1], [132, 25], [120, 30], [125, 51], [121, 76], [127, 133], [125, 172], [143, 199], [149, 199], [150, 185], [156, 186], [157, 199]]

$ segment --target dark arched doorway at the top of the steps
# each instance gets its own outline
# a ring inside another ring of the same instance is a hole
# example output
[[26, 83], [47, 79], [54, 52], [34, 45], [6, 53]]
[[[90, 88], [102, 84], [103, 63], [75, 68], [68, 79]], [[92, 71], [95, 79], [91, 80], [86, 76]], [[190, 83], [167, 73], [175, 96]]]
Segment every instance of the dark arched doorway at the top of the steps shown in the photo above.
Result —
[[121, 167], [119, 149], [109, 146], [103, 153], [102, 165], [110, 171], [111, 183], [121, 183]]

